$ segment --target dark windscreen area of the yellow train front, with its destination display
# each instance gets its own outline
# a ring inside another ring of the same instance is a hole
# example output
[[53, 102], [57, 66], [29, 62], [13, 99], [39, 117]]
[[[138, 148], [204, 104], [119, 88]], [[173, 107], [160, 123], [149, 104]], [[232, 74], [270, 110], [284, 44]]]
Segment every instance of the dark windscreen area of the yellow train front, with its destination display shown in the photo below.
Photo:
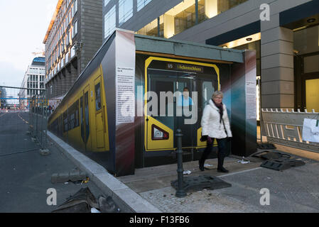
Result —
[[152, 62], [147, 70], [147, 116], [153, 119], [151, 140], [169, 140], [170, 136], [173, 139], [175, 136], [169, 132], [179, 128], [183, 147], [197, 146], [202, 111], [218, 89], [218, 82], [214, 67]]

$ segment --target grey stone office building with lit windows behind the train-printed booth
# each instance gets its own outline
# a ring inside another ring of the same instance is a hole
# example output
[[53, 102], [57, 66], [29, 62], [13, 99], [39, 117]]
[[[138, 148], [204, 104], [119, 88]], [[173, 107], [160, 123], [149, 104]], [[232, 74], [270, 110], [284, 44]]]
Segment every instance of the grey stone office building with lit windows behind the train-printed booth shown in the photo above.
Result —
[[116, 27], [256, 50], [262, 108], [319, 111], [318, 0], [104, 0], [104, 40]]

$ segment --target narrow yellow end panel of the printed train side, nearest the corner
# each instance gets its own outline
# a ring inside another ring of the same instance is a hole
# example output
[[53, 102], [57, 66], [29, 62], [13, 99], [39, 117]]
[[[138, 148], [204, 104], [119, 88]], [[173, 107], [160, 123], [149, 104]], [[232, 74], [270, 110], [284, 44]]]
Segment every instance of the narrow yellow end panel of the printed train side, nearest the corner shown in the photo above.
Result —
[[102, 109], [102, 95], [101, 95], [101, 76], [94, 80], [94, 93], [95, 93], [95, 128], [96, 128], [96, 144], [97, 148], [104, 148], [104, 119]]

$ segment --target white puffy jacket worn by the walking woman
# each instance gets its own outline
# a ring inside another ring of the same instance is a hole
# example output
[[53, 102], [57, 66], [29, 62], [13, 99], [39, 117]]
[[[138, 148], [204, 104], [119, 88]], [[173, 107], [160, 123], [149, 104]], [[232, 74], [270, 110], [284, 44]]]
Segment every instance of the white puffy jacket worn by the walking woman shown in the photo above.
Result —
[[224, 111], [222, 119], [225, 123], [227, 135], [225, 133], [224, 124], [220, 122], [220, 110], [215, 106], [210, 99], [209, 104], [205, 106], [204, 112], [202, 113], [202, 135], [208, 135], [210, 138], [227, 138], [232, 137], [232, 131], [230, 130], [229, 119], [227, 115], [227, 109], [225, 104], [223, 105]]

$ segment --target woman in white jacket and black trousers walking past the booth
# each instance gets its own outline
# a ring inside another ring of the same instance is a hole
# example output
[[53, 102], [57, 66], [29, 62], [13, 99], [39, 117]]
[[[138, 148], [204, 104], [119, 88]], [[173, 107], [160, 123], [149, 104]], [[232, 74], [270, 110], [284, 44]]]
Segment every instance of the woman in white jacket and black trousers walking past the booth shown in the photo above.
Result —
[[223, 94], [220, 91], [214, 92], [212, 94], [212, 99], [210, 99], [209, 104], [205, 106], [202, 113], [202, 139], [207, 140], [207, 147], [202, 153], [199, 165], [200, 170], [204, 171], [204, 163], [208, 155], [212, 152], [212, 144], [214, 143], [214, 138], [217, 140], [218, 145], [218, 172], [229, 172], [226, 170], [224, 165], [224, 159], [226, 155], [226, 143], [227, 137], [232, 137], [232, 131], [230, 130], [229, 119], [227, 116], [227, 109], [225, 104], [222, 104]]

